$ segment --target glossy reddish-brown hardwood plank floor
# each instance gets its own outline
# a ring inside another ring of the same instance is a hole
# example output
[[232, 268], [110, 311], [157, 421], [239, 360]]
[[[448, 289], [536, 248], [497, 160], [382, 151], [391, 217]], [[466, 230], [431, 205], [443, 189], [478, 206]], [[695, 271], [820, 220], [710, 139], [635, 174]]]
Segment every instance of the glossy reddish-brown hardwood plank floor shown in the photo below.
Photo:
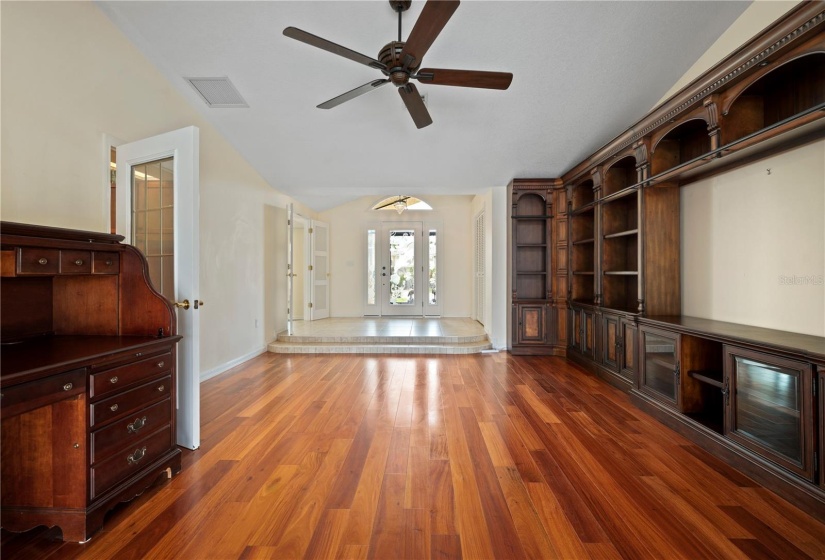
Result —
[[559, 358], [265, 354], [88, 543], [2, 558], [825, 558], [825, 525]]

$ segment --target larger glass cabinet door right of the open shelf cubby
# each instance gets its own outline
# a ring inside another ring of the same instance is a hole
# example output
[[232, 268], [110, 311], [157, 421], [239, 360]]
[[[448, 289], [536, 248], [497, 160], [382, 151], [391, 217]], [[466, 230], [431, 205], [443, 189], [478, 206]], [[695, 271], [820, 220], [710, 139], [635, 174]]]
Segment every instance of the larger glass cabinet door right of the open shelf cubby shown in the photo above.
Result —
[[812, 368], [740, 348], [725, 348], [730, 383], [726, 435], [812, 480]]

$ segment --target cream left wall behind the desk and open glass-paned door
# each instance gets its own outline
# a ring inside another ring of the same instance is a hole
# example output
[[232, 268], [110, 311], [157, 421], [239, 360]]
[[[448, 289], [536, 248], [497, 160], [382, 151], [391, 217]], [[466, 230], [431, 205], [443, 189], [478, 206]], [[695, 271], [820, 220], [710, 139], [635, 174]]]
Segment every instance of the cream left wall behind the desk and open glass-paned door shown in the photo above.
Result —
[[[2, 2], [2, 219], [108, 231], [103, 136], [200, 129], [201, 373], [260, 352], [273, 295], [270, 188], [91, 2]], [[302, 213], [312, 215], [309, 210]], [[255, 326], [255, 321], [258, 326]]]

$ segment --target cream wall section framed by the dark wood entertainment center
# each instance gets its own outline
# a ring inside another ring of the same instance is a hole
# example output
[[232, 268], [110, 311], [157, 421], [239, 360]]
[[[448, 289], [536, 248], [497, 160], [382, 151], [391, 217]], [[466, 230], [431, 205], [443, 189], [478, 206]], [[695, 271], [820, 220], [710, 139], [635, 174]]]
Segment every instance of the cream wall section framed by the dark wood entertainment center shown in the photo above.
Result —
[[682, 313], [825, 336], [825, 141], [688, 185]]

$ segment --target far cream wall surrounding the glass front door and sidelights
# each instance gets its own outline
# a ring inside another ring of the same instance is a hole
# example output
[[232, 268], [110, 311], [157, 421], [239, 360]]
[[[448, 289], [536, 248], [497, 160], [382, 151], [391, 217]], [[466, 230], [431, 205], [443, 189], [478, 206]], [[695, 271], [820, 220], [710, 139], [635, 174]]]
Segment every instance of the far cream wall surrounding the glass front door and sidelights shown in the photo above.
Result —
[[[415, 196], [415, 193], [409, 193]], [[366, 225], [384, 221], [441, 222], [442, 274], [439, 298], [443, 317], [472, 313], [471, 196], [426, 196], [432, 211], [407, 210], [400, 216], [371, 210], [380, 197], [362, 197], [327, 212], [319, 219], [330, 225], [330, 316], [361, 317], [366, 285]]]

